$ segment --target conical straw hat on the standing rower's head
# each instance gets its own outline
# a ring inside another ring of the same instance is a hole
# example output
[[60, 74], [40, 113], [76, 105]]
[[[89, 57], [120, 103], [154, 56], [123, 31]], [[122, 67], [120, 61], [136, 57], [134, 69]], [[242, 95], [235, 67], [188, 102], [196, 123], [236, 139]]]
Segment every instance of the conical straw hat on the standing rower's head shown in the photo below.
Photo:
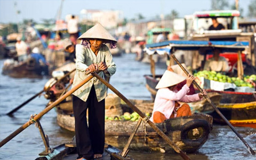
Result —
[[111, 36], [110, 33], [100, 23], [96, 23], [96, 25], [78, 37], [79, 40], [82, 40], [83, 38], [99, 38], [117, 42], [116, 39]]

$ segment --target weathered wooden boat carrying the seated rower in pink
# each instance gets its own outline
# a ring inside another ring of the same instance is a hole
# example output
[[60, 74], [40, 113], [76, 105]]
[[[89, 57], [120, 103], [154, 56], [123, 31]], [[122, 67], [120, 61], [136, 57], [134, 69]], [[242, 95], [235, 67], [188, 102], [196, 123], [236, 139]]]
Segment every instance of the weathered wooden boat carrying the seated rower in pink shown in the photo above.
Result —
[[[133, 100], [133, 103], [141, 100]], [[64, 102], [57, 106], [57, 123], [64, 129], [75, 131], [75, 119], [70, 108], [71, 102]], [[143, 112], [152, 111], [153, 103], [142, 102], [135, 104]], [[144, 109], [144, 110], [143, 110]], [[123, 111], [131, 111], [130, 107], [122, 105]], [[210, 115], [195, 113], [192, 116], [167, 119], [156, 124], [169, 138], [186, 153], [194, 153], [203, 146], [212, 130], [213, 119]], [[109, 145], [123, 148], [137, 122], [105, 121], [105, 142]], [[174, 153], [175, 151], [149, 126], [139, 127], [133, 138], [132, 150]]]

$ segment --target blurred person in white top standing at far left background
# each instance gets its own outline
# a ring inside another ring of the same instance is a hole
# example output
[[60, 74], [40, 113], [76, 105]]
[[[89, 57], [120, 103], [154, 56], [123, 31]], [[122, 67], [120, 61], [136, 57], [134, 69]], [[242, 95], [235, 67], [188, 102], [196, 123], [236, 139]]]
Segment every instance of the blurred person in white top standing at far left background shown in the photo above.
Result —
[[18, 61], [25, 61], [27, 59], [28, 45], [24, 41], [21, 41], [21, 37], [17, 37], [16, 40], [17, 42], [15, 43], [15, 47], [17, 51]]

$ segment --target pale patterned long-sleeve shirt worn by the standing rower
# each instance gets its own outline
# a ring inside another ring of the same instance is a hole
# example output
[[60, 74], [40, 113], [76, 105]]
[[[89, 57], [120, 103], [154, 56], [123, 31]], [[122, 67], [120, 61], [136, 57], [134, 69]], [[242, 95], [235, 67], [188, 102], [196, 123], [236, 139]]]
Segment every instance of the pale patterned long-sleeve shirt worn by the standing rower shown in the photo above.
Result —
[[[112, 59], [112, 55], [105, 44], [102, 44], [97, 56], [93, 53], [93, 51], [89, 48], [87, 49], [81, 44], [76, 45], [76, 74], [74, 77], [72, 87], [76, 86], [80, 82], [82, 82], [88, 75], [85, 75], [85, 69], [88, 68], [92, 63], [100, 63], [105, 62], [108, 66], [109, 74], [106, 76], [111, 76], [116, 72], [116, 65]], [[99, 73], [99, 76], [104, 78], [103, 71]], [[73, 94], [80, 98], [81, 100], [87, 100], [89, 93], [91, 91], [91, 87], [94, 85], [95, 92], [97, 95], [98, 101], [101, 101], [107, 97], [107, 86], [99, 81], [96, 77], [93, 77], [89, 82], [81, 86], [78, 90], [76, 90]]]

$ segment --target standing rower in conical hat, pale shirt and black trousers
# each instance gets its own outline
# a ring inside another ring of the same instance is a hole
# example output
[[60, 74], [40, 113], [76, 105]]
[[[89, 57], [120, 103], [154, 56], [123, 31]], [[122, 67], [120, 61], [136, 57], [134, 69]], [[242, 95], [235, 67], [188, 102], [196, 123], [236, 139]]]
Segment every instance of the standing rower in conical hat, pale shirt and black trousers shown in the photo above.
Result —
[[[115, 62], [105, 45], [110, 43], [111, 49], [116, 47], [116, 39], [100, 24], [87, 30], [76, 45], [76, 73], [72, 87], [81, 83], [87, 75], [86, 71], [102, 70], [100, 77], [111, 76], [116, 71]], [[75, 116], [75, 134], [77, 159], [102, 157], [105, 145], [105, 98], [107, 87], [96, 77], [73, 93], [73, 111]], [[87, 126], [86, 110], [88, 109], [89, 126]]]

